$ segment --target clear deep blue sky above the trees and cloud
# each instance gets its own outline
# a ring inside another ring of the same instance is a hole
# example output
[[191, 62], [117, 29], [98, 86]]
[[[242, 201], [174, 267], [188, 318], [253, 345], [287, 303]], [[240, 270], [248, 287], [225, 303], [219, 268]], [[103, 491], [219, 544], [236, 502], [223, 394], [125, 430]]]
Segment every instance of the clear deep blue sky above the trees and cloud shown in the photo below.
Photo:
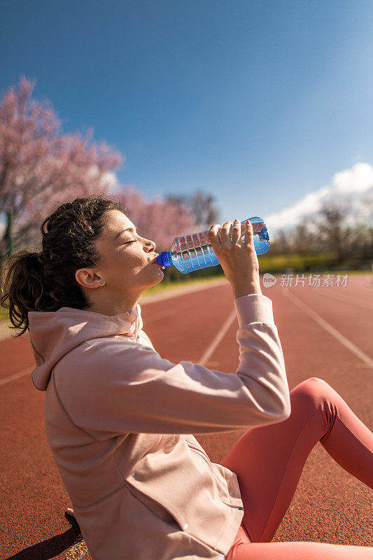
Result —
[[220, 222], [286, 219], [373, 164], [372, 29], [371, 0], [13, 0], [0, 90], [36, 78], [63, 130], [93, 127], [149, 200], [202, 189]]

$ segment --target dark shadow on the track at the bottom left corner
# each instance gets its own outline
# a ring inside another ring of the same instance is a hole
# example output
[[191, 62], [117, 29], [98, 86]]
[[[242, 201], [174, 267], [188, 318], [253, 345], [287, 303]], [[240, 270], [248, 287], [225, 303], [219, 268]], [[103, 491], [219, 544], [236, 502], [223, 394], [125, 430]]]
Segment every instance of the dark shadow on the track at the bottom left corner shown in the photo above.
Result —
[[6, 560], [50, 560], [83, 540], [76, 519], [67, 513], [65, 513], [65, 517], [71, 524], [71, 528], [67, 531], [38, 542], [37, 545], [27, 547], [21, 552], [9, 556]]

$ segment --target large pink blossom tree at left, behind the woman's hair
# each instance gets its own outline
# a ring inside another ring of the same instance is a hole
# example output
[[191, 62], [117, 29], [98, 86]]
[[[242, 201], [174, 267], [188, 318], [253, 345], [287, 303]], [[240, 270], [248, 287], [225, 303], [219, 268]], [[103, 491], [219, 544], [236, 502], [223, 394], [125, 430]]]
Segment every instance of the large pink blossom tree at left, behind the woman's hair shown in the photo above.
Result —
[[0, 257], [13, 246], [36, 244], [41, 220], [55, 204], [108, 193], [123, 160], [106, 144], [91, 143], [92, 130], [85, 137], [61, 134], [50, 102], [31, 99], [34, 86], [22, 77], [0, 102], [0, 214], [6, 216]]

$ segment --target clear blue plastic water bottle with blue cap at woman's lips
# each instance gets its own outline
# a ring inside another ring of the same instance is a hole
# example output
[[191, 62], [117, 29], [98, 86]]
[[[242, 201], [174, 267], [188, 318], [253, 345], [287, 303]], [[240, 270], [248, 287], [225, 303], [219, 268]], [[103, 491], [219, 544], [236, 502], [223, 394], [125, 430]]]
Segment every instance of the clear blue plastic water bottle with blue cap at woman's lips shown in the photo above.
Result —
[[[264, 221], [259, 216], [247, 219], [253, 225], [254, 248], [257, 255], [267, 253], [269, 249], [269, 235]], [[245, 238], [245, 222], [246, 220], [241, 222], [242, 241]], [[171, 249], [160, 253], [157, 262], [164, 267], [174, 265], [180, 272], [187, 274], [193, 270], [218, 265], [219, 259], [213, 252], [209, 241], [209, 230], [204, 230], [199, 233], [175, 237], [174, 241], [172, 241]]]

